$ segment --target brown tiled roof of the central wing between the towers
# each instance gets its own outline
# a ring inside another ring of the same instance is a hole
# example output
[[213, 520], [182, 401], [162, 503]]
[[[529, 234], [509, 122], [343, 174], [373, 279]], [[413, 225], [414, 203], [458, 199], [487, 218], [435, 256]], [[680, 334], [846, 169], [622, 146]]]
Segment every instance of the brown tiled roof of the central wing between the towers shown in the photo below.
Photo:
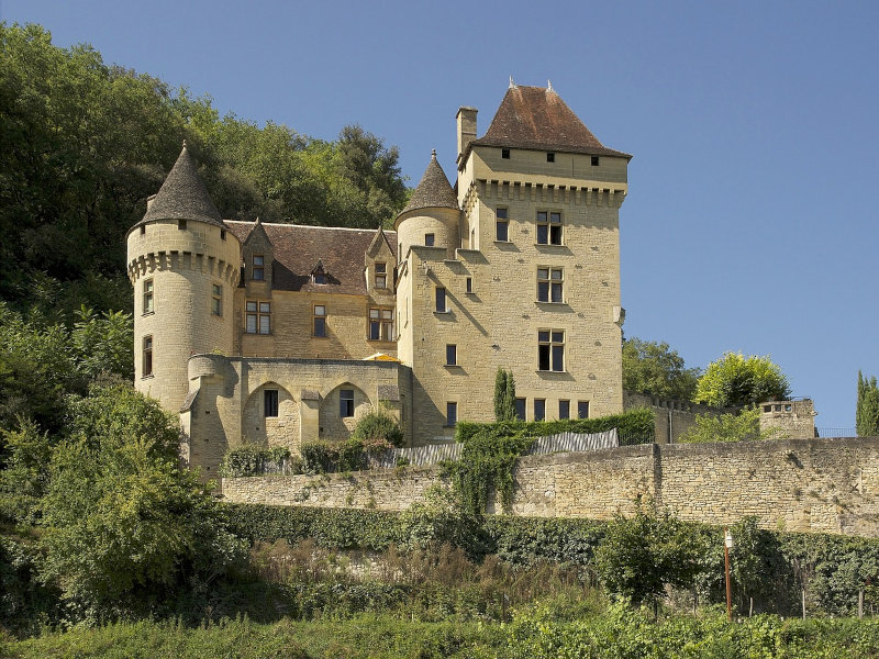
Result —
[[[274, 290], [367, 294], [364, 255], [375, 241], [378, 231], [266, 222], [260, 224], [272, 245]], [[226, 221], [226, 226], [242, 244], [255, 225], [255, 222]], [[397, 233], [386, 231], [385, 236], [396, 260]], [[323, 266], [327, 283], [314, 283], [312, 280], [311, 275], [318, 263]]]

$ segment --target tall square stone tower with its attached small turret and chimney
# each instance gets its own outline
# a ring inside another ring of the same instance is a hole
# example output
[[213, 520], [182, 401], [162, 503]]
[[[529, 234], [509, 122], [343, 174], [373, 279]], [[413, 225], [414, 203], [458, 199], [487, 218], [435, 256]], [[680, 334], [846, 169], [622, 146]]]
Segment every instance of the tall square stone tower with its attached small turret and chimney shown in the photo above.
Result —
[[511, 82], [482, 137], [476, 115], [458, 111], [454, 191], [432, 160], [397, 220], [415, 444], [449, 439], [458, 420], [491, 421], [498, 368], [513, 372], [528, 421], [623, 409], [619, 211], [631, 156], [601, 144], [552, 87]]

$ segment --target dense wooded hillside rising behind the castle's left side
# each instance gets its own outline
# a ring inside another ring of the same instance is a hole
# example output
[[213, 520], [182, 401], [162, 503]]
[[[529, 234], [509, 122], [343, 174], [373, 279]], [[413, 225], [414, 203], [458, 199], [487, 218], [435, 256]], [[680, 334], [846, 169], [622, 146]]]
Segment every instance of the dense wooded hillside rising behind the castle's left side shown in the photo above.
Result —
[[0, 24], [0, 300], [71, 322], [131, 310], [126, 231], [190, 144], [224, 217], [377, 227], [407, 197], [397, 147], [359, 126], [334, 142], [220, 116], [162, 80]]

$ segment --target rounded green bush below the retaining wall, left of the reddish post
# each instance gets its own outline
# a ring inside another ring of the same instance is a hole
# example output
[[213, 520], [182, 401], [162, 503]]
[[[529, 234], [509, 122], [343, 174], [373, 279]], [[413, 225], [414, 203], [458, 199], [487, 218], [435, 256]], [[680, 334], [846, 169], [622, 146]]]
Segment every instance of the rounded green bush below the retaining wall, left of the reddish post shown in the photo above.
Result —
[[596, 568], [609, 592], [641, 604], [655, 601], [666, 587], [690, 588], [699, 571], [694, 527], [656, 516], [639, 506], [631, 517], [608, 524], [596, 549]]

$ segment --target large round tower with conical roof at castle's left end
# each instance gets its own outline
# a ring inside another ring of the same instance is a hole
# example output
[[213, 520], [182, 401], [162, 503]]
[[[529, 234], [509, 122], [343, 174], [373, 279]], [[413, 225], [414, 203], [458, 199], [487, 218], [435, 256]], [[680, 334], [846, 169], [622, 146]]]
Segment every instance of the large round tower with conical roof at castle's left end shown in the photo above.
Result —
[[191, 355], [231, 355], [241, 243], [223, 223], [186, 142], [146, 214], [129, 230], [134, 384], [177, 412]]

